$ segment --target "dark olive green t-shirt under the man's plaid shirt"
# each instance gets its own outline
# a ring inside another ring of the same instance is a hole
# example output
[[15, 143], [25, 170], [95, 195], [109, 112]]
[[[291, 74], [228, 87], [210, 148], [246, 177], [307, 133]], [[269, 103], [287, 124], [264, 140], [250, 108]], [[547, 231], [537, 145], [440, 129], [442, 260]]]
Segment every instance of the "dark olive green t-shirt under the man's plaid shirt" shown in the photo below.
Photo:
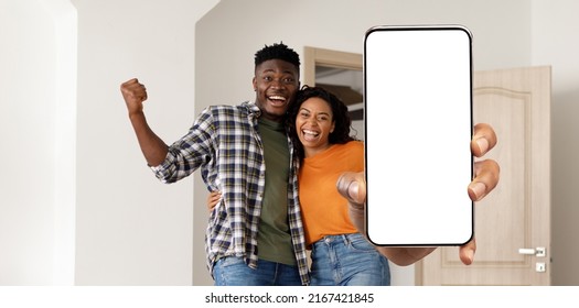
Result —
[[257, 233], [259, 258], [297, 265], [288, 223], [289, 145], [282, 123], [259, 118], [266, 189]]

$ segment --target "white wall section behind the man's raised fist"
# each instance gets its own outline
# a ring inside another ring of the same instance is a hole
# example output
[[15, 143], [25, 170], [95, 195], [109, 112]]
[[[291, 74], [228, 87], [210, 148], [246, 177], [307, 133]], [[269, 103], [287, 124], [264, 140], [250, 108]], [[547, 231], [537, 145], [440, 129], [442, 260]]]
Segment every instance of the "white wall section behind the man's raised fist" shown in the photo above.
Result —
[[[194, 118], [195, 22], [216, 1], [73, 0], [78, 11], [76, 284], [191, 285], [192, 178], [148, 169], [120, 84], [168, 143]], [[202, 274], [206, 274], [203, 271]]]

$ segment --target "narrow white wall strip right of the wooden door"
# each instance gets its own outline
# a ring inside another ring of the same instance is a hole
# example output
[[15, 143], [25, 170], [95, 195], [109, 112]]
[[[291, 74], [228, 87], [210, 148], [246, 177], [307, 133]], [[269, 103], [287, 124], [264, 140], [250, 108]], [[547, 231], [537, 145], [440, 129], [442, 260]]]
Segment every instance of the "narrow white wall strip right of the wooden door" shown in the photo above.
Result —
[[553, 65], [553, 284], [579, 285], [579, 2], [533, 3], [533, 64]]

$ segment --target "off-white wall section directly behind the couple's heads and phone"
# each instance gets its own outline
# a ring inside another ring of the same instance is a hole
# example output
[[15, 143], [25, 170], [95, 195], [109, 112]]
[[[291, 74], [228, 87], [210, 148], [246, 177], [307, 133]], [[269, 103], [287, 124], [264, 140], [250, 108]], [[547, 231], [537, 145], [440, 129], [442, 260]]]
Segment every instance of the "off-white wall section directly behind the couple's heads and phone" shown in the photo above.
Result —
[[[195, 68], [203, 78], [195, 85], [195, 109], [254, 99], [253, 59], [264, 44], [283, 41], [302, 57], [304, 46], [362, 54], [364, 32], [372, 25], [412, 23], [468, 26], [475, 69], [530, 65], [530, 2], [525, 0], [222, 0], [196, 26]], [[204, 190], [197, 180], [195, 202], [204, 202]], [[201, 245], [206, 210], [195, 207], [194, 213], [194, 239]], [[196, 251], [194, 257], [203, 257]], [[199, 263], [194, 268], [202, 271]], [[195, 276], [194, 284], [211, 279]], [[414, 267], [393, 266], [393, 284], [414, 285]]]

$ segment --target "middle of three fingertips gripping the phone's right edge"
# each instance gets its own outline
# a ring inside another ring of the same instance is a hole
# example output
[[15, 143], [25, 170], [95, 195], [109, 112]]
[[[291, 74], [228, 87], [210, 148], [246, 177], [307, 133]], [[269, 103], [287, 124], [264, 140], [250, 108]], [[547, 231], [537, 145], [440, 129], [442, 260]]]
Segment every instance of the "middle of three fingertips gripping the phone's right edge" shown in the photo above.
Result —
[[501, 169], [493, 160], [484, 160], [474, 163], [474, 178], [469, 185], [469, 197], [479, 201], [489, 195], [498, 184]]

